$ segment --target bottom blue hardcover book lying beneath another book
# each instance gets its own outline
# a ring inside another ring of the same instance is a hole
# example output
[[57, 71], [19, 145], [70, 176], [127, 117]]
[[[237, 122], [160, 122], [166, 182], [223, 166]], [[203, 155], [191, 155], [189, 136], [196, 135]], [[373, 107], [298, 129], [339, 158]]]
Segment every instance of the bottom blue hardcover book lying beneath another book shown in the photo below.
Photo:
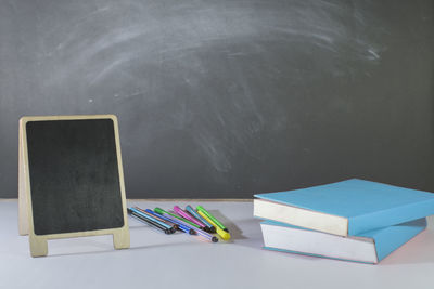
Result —
[[265, 249], [376, 264], [426, 227], [426, 220], [341, 237], [273, 221], [260, 223]]

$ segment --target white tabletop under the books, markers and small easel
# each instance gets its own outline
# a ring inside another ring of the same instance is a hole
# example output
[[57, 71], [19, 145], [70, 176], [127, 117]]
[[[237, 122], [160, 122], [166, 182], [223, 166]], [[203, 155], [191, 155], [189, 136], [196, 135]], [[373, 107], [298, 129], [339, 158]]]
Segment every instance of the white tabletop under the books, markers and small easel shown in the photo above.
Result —
[[[142, 208], [191, 201], [128, 201]], [[50, 240], [49, 255], [31, 258], [17, 233], [16, 200], [0, 201], [0, 288], [434, 288], [434, 219], [429, 228], [378, 265], [261, 249], [253, 203], [201, 201], [228, 226], [232, 241], [209, 244], [165, 235], [129, 219], [131, 248], [111, 236]]]

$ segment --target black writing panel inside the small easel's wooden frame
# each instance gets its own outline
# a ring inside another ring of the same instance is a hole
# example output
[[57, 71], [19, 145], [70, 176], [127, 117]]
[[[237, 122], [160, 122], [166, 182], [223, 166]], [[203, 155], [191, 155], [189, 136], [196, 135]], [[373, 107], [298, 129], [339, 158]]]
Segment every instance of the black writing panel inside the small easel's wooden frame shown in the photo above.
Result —
[[36, 235], [124, 226], [112, 119], [26, 124]]

